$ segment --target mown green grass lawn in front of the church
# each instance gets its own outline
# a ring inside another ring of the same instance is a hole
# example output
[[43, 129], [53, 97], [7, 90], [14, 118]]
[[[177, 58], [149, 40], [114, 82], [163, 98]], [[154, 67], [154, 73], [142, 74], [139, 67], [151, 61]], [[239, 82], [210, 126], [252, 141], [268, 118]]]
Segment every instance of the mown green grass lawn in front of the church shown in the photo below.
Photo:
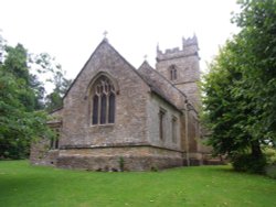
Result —
[[0, 162], [0, 206], [276, 206], [276, 181], [230, 166], [95, 173]]

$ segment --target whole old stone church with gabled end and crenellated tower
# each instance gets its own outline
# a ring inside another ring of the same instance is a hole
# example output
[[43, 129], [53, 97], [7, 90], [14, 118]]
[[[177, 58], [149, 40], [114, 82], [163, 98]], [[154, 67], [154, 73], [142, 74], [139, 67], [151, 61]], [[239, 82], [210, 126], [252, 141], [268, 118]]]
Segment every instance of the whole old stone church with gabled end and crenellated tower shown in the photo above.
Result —
[[59, 139], [32, 145], [31, 163], [88, 171], [149, 171], [208, 162], [199, 109], [197, 36], [157, 47], [156, 68], [131, 66], [104, 39], [51, 113]]

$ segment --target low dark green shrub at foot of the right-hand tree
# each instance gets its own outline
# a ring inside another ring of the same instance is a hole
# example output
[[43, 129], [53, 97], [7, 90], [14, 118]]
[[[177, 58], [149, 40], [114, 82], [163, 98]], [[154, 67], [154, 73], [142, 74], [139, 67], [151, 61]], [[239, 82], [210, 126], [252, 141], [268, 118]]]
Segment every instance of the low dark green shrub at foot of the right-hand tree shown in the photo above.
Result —
[[256, 159], [252, 154], [238, 154], [232, 157], [232, 164], [234, 170], [238, 172], [264, 174], [266, 157]]

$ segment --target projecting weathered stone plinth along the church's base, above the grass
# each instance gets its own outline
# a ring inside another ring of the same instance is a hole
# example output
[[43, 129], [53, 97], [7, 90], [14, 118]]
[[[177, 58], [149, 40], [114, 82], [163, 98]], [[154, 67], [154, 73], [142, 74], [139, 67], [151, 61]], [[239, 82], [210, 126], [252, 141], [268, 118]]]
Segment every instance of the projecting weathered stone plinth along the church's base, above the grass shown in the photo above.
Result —
[[182, 153], [152, 146], [61, 150], [57, 166], [89, 171], [150, 171], [182, 166]]

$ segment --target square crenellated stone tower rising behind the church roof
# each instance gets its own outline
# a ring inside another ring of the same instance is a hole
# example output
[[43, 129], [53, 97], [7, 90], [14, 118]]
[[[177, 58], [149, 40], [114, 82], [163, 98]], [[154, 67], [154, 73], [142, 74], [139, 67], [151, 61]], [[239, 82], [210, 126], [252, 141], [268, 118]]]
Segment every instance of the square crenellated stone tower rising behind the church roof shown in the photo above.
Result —
[[200, 65], [198, 39], [182, 39], [182, 48], [174, 47], [164, 52], [157, 46], [157, 70], [183, 91], [198, 109], [201, 106], [198, 81]]

